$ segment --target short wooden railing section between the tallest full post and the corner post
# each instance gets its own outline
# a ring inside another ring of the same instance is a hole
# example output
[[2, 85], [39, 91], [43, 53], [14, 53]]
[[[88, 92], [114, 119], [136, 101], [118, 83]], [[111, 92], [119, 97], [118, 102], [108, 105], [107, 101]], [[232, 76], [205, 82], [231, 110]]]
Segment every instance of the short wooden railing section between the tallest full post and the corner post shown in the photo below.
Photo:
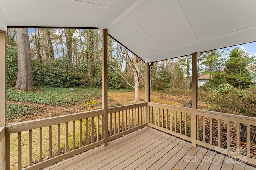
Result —
[[147, 103], [108, 108], [108, 141], [147, 125]]

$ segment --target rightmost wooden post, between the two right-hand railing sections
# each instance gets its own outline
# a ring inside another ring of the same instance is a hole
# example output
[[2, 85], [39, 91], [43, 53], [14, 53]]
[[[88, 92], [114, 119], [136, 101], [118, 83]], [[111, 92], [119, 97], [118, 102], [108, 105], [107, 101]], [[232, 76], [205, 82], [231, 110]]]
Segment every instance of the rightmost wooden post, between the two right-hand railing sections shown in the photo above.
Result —
[[197, 53], [192, 53], [192, 115], [191, 115], [191, 138], [192, 146], [196, 147], [196, 109], [197, 109]]

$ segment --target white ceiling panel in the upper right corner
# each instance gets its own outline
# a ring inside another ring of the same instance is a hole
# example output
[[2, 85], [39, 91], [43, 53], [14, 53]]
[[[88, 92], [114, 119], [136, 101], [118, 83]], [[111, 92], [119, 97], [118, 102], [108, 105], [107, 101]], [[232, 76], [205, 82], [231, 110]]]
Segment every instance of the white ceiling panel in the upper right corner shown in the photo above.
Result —
[[256, 25], [255, 0], [180, 0], [199, 40]]

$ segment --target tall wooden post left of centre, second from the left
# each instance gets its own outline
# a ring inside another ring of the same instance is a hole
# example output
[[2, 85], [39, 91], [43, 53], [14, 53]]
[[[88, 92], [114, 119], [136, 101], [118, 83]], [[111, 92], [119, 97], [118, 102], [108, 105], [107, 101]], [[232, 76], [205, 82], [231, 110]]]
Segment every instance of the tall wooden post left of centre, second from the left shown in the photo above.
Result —
[[108, 145], [108, 30], [103, 29], [102, 42], [102, 109], [104, 109], [104, 146]]

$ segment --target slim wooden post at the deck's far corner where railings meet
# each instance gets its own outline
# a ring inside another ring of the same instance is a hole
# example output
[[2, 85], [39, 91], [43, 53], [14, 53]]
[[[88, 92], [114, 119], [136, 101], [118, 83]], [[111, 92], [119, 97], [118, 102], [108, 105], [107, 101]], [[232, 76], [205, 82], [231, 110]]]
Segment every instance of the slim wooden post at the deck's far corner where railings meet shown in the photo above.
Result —
[[[145, 102], [150, 102], [150, 76], [149, 63], [145, 63]], [[146, 123], [150, 123], [150, 111], [146, 106]]]

